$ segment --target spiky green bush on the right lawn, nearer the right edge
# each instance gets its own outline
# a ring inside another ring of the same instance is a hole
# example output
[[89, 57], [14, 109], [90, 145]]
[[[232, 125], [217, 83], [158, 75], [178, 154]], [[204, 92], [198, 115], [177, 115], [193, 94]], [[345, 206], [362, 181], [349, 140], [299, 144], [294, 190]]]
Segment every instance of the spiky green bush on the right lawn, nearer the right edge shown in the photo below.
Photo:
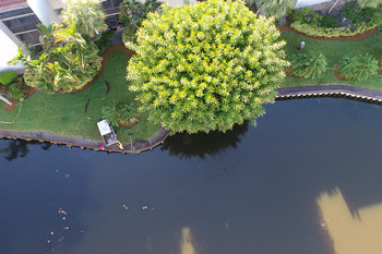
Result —
[[378, 73], [378, 61], [369, 53], [346, 56], [339, 64], [339, 73], [347, 80], [366, 81]]

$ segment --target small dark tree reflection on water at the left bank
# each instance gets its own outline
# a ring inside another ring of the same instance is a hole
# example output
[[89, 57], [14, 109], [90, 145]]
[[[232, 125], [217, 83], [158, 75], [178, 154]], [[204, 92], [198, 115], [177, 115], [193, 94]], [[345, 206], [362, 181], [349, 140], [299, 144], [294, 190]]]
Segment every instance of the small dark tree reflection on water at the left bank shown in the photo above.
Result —
[[40, 143], [40, 142], [27, 142], [23, 140], [10, 140], [7, 143], [7, 147], [0, 148], [0, 155], [4, 155], [4, 158], [9, 161], [14, 160], [16, 158], [26, 157], [29, 153], [29, 146], [40, 145], [44, 150], [50, 148], [51, 143]]

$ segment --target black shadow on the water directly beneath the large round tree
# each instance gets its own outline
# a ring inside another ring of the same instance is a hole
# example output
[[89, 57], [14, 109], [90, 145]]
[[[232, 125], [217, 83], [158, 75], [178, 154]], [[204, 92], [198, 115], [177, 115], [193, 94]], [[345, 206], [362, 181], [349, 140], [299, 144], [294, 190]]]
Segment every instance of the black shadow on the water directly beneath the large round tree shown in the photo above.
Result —
[[232, 130], [226, 133], [218, 131], [210, 132], [208, 134], [178, 133], [169, 136], [160, 149], [168, 150], [170, 156], [178, 156], [179, 158], [204, 158], [206, 155], [213, 156], [227, 148], [237, 148], [241, 136], [247, 131], [248, 122], [235, 125]]

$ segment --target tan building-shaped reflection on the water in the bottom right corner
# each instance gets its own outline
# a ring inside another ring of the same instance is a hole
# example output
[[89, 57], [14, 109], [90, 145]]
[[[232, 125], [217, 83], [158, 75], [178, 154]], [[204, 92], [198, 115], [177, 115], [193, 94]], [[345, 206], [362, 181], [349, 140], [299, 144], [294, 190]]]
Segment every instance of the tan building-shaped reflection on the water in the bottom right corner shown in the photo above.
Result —
[[382, 253], [382, 205], [349, 210], [338, 189], [318, 198], [323, 222], [336, 254]]

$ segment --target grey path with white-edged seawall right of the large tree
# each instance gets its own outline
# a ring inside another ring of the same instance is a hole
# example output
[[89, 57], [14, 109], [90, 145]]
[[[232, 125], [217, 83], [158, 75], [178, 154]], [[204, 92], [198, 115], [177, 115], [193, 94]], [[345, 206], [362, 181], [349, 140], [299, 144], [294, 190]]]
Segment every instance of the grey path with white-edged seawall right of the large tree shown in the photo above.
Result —
[[382, 102], [382, 90], [356, 87], [350, 85], [306, 85], [278, 88], [277, 99], [301, 98], [311, 96], [345, 96]]

